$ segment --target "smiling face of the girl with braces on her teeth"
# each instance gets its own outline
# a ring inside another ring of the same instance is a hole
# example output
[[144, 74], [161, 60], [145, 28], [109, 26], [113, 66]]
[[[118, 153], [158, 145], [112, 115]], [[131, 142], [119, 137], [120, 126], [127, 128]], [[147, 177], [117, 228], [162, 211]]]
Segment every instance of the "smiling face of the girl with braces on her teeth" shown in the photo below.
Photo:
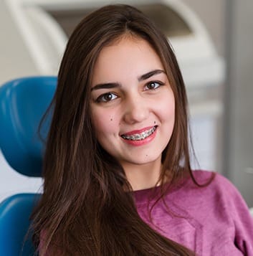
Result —
[[161, 167], [171, 138], [175, 100], [158, 54], [145, 40], [123, 37], [104, 47], [92, 77], [97, 140], [127, 171]]

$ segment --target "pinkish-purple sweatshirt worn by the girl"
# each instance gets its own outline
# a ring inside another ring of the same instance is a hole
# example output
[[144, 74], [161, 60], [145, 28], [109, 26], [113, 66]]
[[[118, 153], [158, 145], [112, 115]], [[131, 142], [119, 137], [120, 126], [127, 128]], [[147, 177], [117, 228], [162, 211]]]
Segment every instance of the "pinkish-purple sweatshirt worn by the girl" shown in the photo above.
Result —
[[[210, 175], [208, 171], [194, 171], [200, 184]], [[159, 189], [154, 189], [155, 194]], [[191, 179], [173, 188], [165, 197], [172, 214], [160, 200], [151, 212], [153, 222], [148, 217], [151, 192], [152, 189], [135, 191], [138, 213], [165, 237], [197, 255], [253, 255], [253, 218], [242, 196], [223, 176], [216, 174], [204, 188], [197, 187]]]

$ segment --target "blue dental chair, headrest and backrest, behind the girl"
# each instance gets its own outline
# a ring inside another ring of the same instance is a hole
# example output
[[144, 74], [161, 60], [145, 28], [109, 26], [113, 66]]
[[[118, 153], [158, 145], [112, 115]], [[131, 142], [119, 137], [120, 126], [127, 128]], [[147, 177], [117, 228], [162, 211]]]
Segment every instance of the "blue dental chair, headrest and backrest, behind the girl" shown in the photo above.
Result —
[[[0, 148], [12, 169], [20, 174], [42, 175], [50, 115], [40, 130], [39, 123], [52, 101], [56, 85], [57, 77], [24, 77], [0, 86]], [[39, 196], [14, 194], [0, 202], [1, 256], [34, 255], [32, 237], [27, 237], [27, 231]]]

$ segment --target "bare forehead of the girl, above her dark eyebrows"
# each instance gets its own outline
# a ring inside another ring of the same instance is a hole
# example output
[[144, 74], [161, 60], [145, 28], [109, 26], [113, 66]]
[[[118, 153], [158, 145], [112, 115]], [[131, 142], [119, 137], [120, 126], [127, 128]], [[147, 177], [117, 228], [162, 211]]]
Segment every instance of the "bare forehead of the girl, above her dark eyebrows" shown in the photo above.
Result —
[[156, 69], [164, 70], [153, 47], [139, 37], [125, 36], [102, 48], [95, 63], [92, 84], [139, 77]]

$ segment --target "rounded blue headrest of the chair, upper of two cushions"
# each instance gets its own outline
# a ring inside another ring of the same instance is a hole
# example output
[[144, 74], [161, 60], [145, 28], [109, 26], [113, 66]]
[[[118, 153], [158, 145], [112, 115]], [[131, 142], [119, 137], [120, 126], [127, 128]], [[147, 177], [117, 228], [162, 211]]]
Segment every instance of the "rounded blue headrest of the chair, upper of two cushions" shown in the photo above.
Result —
[[44, 140], [50, 117], [39, 123], [57, 86], [57, 77], [24, 77], [0, 87], [0, 148], [20, 174], [42, 175]]

